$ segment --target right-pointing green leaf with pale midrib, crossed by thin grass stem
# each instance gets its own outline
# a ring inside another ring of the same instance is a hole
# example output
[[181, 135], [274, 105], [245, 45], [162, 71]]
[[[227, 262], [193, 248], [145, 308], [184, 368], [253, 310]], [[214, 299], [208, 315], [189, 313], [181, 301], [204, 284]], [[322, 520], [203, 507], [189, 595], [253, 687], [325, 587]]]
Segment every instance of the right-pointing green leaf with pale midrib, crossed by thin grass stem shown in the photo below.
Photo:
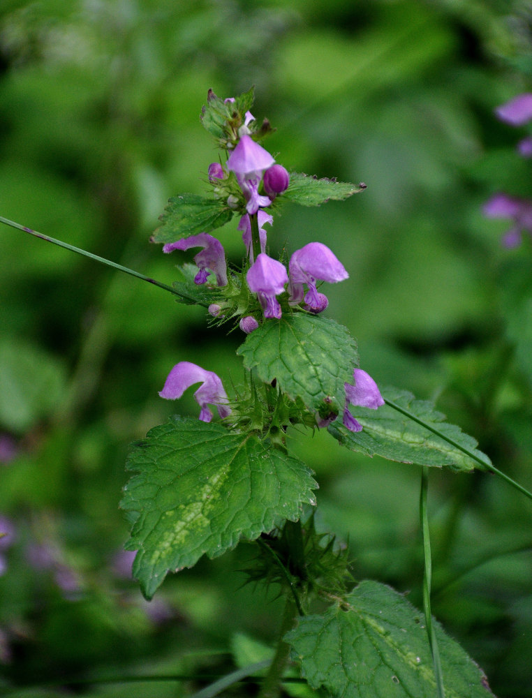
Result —
[[369, 456], [376, 454], [401, 463], [438, 468], [448, 466], [455, 471], [483, 469], [481, 463], [459, 448], [462, 447], [484, 461], [487, 466], [491, 464], [488, 456], [476, 449], [475, 439], [461, 431], [459, 426], [445, 422], [445, 415], [434, 410], [433, 403], [416, 400], [410, 392], [397, 388], [388, 387], [380, 392], [385, 399], [436, 429], [456, 445], [436, 436], [390, 405], [379, 407], [378, 410], [351, 406], [350, 413], [362, 424], [362, 431], [349, 431], [339, 419], [327, 427], [341, 445], [352, 451], [360, 451]]

